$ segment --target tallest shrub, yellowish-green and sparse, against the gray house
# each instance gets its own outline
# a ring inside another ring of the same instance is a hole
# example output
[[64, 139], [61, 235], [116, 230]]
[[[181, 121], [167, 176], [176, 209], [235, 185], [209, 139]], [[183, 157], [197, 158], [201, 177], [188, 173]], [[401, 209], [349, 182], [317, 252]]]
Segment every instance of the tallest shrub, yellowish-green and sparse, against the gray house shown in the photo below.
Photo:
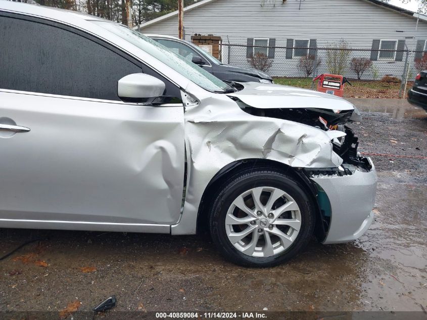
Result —
[[[331, 74], [344, 74], [349, 64], [351, 50], [349, 43], [341, 39], [329, 44], [326, 50], [326, 66]], [[334, 49], [335, 48], [335, 49]]]

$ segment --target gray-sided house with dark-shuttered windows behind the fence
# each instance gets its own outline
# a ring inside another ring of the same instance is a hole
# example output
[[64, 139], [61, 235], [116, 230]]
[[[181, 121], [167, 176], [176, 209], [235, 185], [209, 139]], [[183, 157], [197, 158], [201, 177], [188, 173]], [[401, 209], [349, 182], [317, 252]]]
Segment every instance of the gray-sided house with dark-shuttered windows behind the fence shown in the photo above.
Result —
[[[224, 63], [249, 66], [250, 57], [264, 53], [272, 61], [268, 73], [277, 76], [301, 75], [298, 64], [307, 55], [321, 61], [317, 73], [327, 72], [331, 51], [322, 48], [341, 39], [353, 49], [350, 60], [372, 61], [376, 71], [364, 78], [401, 77], [405, 61], [413, 77], [414, 62], [427, 51], [427, 17], [378, 0], [203, 0], [184, 9], [184, 26], [188, 40], [196, 33], [221, 36]], [[177, 12], [135, 28], [177, 36]], [[350, 67], [345, 73], [355, 76]]]

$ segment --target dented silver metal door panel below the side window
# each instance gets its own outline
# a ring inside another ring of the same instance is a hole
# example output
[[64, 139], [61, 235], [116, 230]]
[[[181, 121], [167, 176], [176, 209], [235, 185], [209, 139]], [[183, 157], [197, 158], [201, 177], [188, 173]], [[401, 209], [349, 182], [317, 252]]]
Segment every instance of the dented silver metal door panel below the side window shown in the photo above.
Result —
[[[182, 107], [0, 92], [0, 218], [164, 223], [180, 213]], [[0, 118], [5, 122], [5, 118]], [[7, 138], [7, 139], [6, 139]]]

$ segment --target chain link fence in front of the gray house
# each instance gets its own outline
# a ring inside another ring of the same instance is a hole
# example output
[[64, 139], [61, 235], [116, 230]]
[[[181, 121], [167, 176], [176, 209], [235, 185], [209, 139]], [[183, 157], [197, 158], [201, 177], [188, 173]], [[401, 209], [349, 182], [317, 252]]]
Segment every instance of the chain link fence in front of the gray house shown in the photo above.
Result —
[[[419, 69], [427, 68], [427, 59], [419, 59], [424, 52], [405, 47], [404, 50], [371, 50], [262, 47], [223, 42], [221, 57], [225, 64], [264, 71], [278, 78], [277, 83], [281, 83], [280, 79], [314, 78], [322, 73], [341, 74], [352, 83], [364, 82], [367, 88], [369, 83], [392, 83], [386, 87], [393, 90], [390, 98], [402, 98], [405, 83], [407, 88], [411, 86]], [[381, 93], [382, 88], [378, 87], [378, 90]], [[387, 96], [386, 92], [384, 94]]]

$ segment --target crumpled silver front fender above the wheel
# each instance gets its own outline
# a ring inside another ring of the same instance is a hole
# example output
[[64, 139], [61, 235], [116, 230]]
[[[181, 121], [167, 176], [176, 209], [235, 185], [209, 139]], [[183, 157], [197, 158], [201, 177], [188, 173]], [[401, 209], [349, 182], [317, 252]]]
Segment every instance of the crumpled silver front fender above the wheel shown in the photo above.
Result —
[[225, 95], [185, 103], [187, 185], [183, 214], [172, 234], [196, 233], [203, 193], [215, 174], [245, 159], [268, 159], [298, 168], [338, 167], [331, 140], [345, 135], [306, 124], [244, 112]]

